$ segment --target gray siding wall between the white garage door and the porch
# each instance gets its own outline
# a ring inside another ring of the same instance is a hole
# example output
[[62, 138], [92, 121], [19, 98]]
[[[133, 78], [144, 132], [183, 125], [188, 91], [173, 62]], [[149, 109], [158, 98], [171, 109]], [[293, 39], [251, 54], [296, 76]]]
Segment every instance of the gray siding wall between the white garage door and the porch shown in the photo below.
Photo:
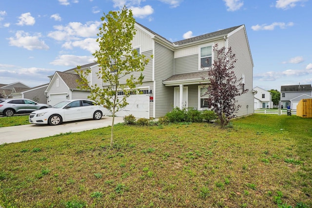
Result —
[[154, 92], [155, 116], [164, 116], [173, 110], [174, 88], [165, 87], [162, 81], [174, 74], [174, 52], [155, 42], [155, 82]]

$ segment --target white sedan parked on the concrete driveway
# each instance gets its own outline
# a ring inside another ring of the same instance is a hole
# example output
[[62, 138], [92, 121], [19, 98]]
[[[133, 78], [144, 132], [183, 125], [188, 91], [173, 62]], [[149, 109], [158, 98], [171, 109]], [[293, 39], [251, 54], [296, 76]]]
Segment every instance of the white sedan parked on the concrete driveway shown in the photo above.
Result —
[[59, 125], [62, 122], [102, 118], [106, 109], [91, 100], [66, 100], [52, 108], [34, 111], [29, 115], [32, 124]]

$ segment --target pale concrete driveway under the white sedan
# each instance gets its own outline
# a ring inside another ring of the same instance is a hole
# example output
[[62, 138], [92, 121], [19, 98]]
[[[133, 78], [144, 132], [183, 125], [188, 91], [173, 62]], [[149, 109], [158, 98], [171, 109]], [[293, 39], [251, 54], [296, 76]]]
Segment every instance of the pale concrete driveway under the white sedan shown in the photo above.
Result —
[[[82, 120], [65, 122], [58, 126], [49, 125], [20, 125], [0, 128], [0, 145], [4, 143], [21, 142], [53, 136], [60, 133], [83, 132], [86, 130], [99, 129], [112, 125], [111, 116], [103, 116], [100, 120]], [[1, 118], [0, 118], [1, 122]], [[115, 117], [115, 124], [123, 123], [123, 117]]]

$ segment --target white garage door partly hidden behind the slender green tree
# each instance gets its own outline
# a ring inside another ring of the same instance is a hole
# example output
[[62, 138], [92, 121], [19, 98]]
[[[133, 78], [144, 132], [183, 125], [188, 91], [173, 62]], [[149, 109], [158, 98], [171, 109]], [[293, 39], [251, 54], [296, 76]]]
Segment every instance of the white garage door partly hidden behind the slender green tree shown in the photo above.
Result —
[[136, 118], [150, 118], [149, 95], [130, 95], [130, 97], [127, 98], [127, 102], [129, 105], [118, 111], [116, 116], [123, 117], [125, 115], [133, 114]]

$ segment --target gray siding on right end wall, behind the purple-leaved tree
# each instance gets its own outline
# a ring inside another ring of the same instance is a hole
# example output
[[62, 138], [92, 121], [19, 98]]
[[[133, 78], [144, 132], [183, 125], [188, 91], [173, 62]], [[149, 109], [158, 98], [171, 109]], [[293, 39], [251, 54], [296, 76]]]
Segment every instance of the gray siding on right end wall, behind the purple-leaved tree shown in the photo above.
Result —
[[[229, 46], [232, 47], [236, 55], [237, 62], [235, 63], [234, 72], [237, 78], [245, 76], [245, 89], [248, 92], [237, 96], [236, 104], [240, 105], [237, 116], [243, 116], [254, 113], [254, 94], [253, 94], [253, 62], [249, 51], [248, 40], [245, 35], [245, 29], [241, 28], [234, 34], [228, 37]], [[247, 107], [248, 106], [248, 107]]]

